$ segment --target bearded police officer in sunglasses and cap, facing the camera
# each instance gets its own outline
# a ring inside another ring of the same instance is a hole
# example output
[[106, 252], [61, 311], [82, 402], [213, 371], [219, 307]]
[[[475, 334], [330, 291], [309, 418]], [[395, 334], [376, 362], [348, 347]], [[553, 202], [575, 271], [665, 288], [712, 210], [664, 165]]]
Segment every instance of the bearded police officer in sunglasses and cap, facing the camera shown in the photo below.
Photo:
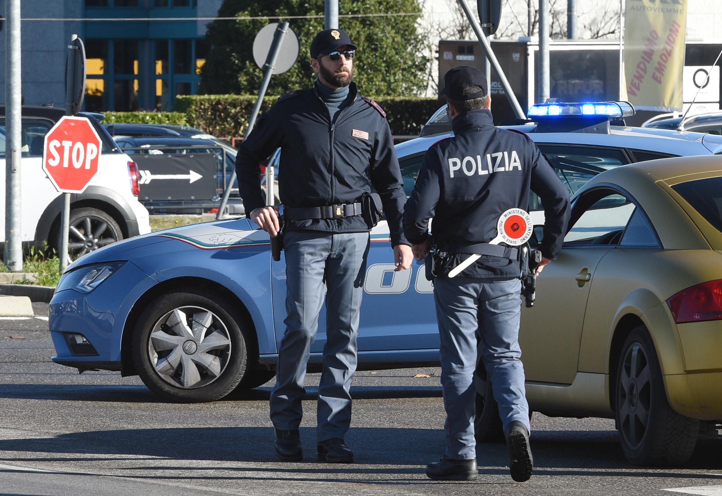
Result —
[[[351, 422], [349, 388], [356, 370], [356, 337], [369, 231], [386, 213], [396, 270], [413, 255], [401, 217], [406, 195], [386, 114], [352, 82], [356, 46], [339, 29], [313, 38], [316, 84], [279, 98], [241, 144], [235, 167], [245, 212], [271, 236], [277, 209], [266, 206], [258, 163], [281, 147], [279, 196], [284, 206], [286, 331], [279, 349], [271, 421], [276, 453], [299, 461], [303, 380], [326, 292], [326, 344], [318, 388], [318, 460], [352, 463], [344, 443]], [[378, 195], [370, 195], [373, 184]], [[326, 288], [324, 288], [324, 281]]]

